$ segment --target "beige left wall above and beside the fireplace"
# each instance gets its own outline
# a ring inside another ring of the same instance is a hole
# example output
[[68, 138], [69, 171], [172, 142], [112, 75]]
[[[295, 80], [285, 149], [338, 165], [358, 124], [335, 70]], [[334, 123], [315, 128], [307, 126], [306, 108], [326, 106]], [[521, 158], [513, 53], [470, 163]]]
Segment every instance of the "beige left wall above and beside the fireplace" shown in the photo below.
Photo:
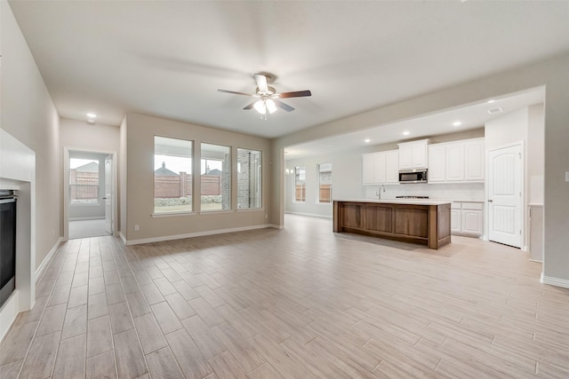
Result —
[[7, 2], [2, 7], [2, 129], [36, 152], [36, 267], [61, 235], [60, 117]]

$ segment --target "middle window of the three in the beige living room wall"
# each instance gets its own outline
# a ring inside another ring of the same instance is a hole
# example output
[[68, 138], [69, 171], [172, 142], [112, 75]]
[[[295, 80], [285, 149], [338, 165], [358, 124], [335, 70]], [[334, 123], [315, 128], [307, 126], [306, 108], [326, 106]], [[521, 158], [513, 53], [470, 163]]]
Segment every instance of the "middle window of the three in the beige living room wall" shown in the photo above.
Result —
[[202, 144], [202, 210], [231, 209], [231, 147]]

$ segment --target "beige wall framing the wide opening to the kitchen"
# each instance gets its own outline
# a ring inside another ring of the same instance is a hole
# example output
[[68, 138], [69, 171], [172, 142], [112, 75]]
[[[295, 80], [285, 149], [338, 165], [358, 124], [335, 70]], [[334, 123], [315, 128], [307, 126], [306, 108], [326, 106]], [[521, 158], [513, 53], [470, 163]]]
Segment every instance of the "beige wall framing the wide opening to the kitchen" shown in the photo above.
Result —
[[[308, 130], [278, 138], [273, 142], [274, 164], [283, 164], [282, 149], [317, 138], [341, 135], [349, 131], [365, 130], [375, 125], [397, 122], [422, 114], [469, 104], [483, 99], [507, 95], [517, 91], [546, 86], [545, 101], [545, 172], [544, 212], [545, 251], [543, 275], [546, 282], [557, 282], [569, 287], [569, 54], [518, 67], [469, 83], [425, 94], [421, 97], [381, 107], [364, 114], [317, 125]], [[275, 210], [271, 222], [283, 225], [284, 195], [283, 170], [273, 172]]]

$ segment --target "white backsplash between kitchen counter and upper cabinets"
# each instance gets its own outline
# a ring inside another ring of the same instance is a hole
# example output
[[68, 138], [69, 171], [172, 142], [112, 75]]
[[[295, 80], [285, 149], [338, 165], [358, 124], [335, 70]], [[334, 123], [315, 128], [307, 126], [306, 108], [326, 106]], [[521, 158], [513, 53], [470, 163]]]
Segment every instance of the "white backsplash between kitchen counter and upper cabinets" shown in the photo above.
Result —
[[[377, 199], [381, 186], [365, 186], [365, 198]], [[484, 183], [387, 185], [381, 199], [396, 196], [429, 196], [429, 199], [452, 201], [484, 201]]]

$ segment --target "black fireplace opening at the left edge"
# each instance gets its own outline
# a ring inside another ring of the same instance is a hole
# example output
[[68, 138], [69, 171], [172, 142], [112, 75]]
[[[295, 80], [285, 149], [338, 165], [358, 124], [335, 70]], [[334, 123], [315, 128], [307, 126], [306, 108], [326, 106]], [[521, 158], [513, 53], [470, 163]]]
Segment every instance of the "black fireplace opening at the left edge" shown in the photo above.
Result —
[[0, 191], [0, 307], [16, 288], [16, 196]]

